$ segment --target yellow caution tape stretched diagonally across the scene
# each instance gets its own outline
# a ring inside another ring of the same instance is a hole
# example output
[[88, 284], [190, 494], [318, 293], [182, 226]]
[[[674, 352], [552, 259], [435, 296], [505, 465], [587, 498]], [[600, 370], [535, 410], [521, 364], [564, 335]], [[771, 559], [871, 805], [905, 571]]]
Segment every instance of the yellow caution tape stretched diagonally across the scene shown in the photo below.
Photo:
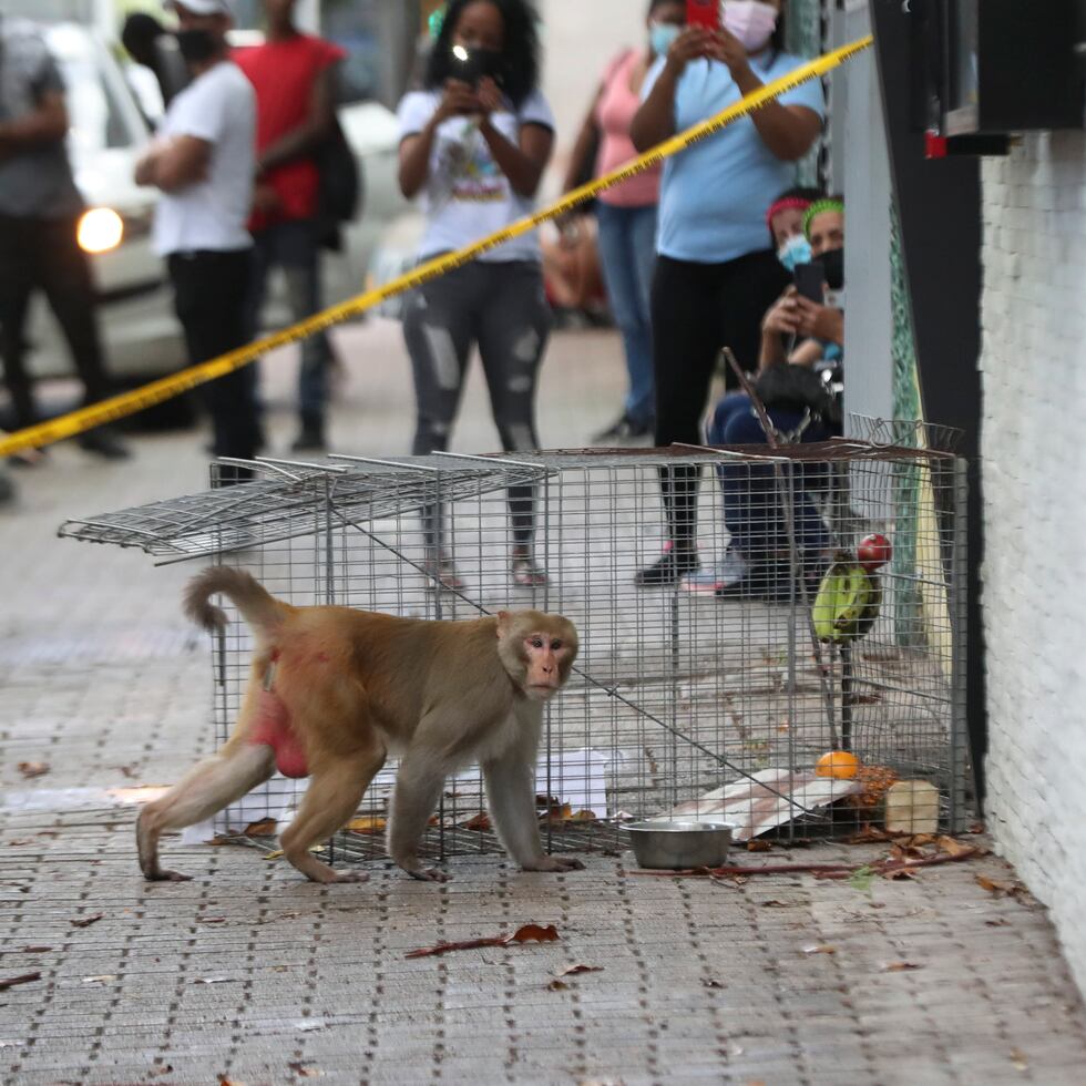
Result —
[[844, 61], [867, 49], [871, 45], [872, 41], [873, 39], [869, 34], [865, 38], [860, 38], [857, 41], [850, 42], [848, 45], [842, 45], [840, 49], [834, 49], [832, 52], [800, 65], [787, 75], [773, 80], [771, 83], [767, 83], [754, 93], [740, 99], [726, 110], [721, 110], [716, 116], [709, 117], [709, 120], [703, 121], [700, 124], [696, 124], [694, 127], [687, 129], [686, 132], [680, 132], [669, 140], [665, 140], [657, 146], [646, 151], [645, 154], [633, 158], [626, 165], [613, 170], [609, 174], [604, 174], [602, 177], [596, 177], [580, 188], [574, 188], [549, 207], [535, 212], [535, 214], [529, 215], [525, 218], [518, 219], [503, 229], [496, 230], [490, 236], [474, 242], [462, 249], [458, 249], [455, 253], [447, 253], [443, 256], [434, 257], [432, 260], [427, 260], [424, 264], [418, 265], [411, 272], [386, 283], [381, 287], [375, 287], [372, 290], [366, 290], [362, 294], [356, 295], [354, 298], [340, 301], [338, 305], [329, 306], [327, 309], [322, 309], [320, 313], [314, 314], [305, 320], [299, 320], [289, 328], [273, 332], [263, 339], [256, 339], [245, 347], [238, 347], [225, 355], [219, 355], [218, 358], [191, 366], [180, 373], [172, 373], [170, 377], [160, 378], [157, 381], [152, 381], [150, 385], [144, 385], [131, 392], [122, 392], [120, 396], [113, 396], [107, 400], [100, 400], [90, 407], [80, 408], [78, 411], [72, 411], [69, 414], [62, 414], [55, 419], [50, 419], [48, 422], [39, 422], [35, 426], [27, 427], [24, 430], [8, 434], [6, 438], [0, 439], [0, 457], [10, 455], [23, 449], [35, 449], [41, 445], [52, 444], [54, 441], [62, 441], [65, 438], [73, 438], [86, 430], [93, 430], [94, 427], [102, 426], [103, 423], [115, 422], [117, 419], [135, 414], [139, 411], [154, 407], [156, 403], [162, 403], [164, 400], [180, 396], [182, 392], [187, 392], [189, 389], [194, 389], [207, 381], [214, 381], [216, 378], [225, 377], [227, 373], [232, 373], [243, 366], [248, 366], [269, 350], [275, 350], [277, 347], [284, 347], [287, 344], [297, 342], [299, 339], [305, 339], [316, 331], [322, 331], [350, 317], [356, 317], [388, 298], [395, 298], [397, 295], [420, 287], [431, 279], [437, 279], [445, 273], [468, 264], [480, 254], [498, 248], [499, 245], [504, 245], [506, 242], [512, 240], [514, 237], [520, 237], [522, 234], [527, 234], [541, 223], [564, 215], [580, 204], [597, 196], [605, 188], [611, 188], [612, 185], [617, 185], [633, 177], [635, 174], [644, 173], [646, 170], [652, 170], [660, 165], [665, 158], [669, 158], [672, 155], [685, 151], [695, 143], [719, 132], [721, 129], [731, 124], [732, 121], [737, 121], [748, 113], [752, 113], [759, 106], [765, 105], [766, 102], [777, 98], [778, 94], [783, 94], [785, 91], [790, 91], [799, 86], [800, 83], [806, 83], [808, 80], [824, 75], [827, 72], [843, 64]]

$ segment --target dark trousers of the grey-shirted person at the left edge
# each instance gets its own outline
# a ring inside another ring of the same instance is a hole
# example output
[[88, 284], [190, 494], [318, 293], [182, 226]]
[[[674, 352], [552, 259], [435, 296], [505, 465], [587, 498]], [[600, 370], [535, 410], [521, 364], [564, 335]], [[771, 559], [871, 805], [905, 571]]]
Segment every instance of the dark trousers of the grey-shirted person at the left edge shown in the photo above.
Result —
[[75, 240], [78, 219], [0, 215], [0, 359], [19, 427], [39, 421], [23, 357], [27, 308], [42, 290], [68, 340], [83, 382], [83, 402], [110, 393], [102, 357], [94, 287], [86, 255]]

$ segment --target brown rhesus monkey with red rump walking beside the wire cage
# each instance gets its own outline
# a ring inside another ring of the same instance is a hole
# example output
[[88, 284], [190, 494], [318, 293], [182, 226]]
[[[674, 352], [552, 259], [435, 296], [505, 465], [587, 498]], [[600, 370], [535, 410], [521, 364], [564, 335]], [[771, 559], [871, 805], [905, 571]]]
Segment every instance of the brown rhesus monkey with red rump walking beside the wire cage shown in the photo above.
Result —
[[310, 847], [358, 810], [389, 754], [402, 757], [388, 849], [417, 879], [444, 875], [419, 861], [418, 842], [444, 779], [482, 766], [502, 844], [525, 871], [568, 871], [580, 860], [546, 856], [535, 813], [535, 757], [543, 705], [577, 655], [576, 627], [560, 615], [503, 611], [472, 622], [398, 618], [350, 607], [294, 607], [239, 570], [213, 566], [189, 582], [185, 612], [208, 631], [228, 596], [256, 637], [248, 687], [229, 740], [140, 812], [140, 867], [152, 880], [188, 878], [158, 865], [163, 830], [209, 818], [278, 768], [311, 777], [283, 832], [286, 858], [314, 882], [361, 882]]

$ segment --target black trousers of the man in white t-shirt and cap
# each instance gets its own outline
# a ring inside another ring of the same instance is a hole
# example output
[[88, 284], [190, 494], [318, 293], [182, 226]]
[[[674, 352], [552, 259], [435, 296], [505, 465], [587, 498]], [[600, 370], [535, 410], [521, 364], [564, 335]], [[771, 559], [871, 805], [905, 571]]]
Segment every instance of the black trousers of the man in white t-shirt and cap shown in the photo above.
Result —
[[[248, 342], [245, 303], [252, 255], [248, 249], [172, 253], [174, 309], [185, 332], [189, 365], [205, 362]], [[212, 418], [216, 457], [250, 460], [260, 445], [260, 420], [252, 366], [199, 386]]]

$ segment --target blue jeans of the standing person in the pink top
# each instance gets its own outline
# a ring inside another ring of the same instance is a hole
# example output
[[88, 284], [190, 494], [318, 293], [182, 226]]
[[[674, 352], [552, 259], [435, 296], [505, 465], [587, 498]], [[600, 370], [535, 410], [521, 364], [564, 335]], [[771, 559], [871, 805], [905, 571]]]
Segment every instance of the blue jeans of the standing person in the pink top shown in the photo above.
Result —
[[601, 202], [596, 204], [596, 223], [607, 298], [626, 351], [626, 416], [633, 422], [650, 423], [656, 417], [649, 308], [656, 264], [656, 205], [615, 207]]

